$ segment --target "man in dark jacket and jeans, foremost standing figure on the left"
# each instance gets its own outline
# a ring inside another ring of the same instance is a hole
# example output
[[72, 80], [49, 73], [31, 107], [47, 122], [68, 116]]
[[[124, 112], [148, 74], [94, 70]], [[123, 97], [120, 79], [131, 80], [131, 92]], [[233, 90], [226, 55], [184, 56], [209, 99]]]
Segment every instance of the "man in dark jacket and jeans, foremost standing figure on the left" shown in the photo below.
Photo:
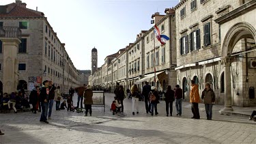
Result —
[[42, 106], [42, 113], [41, 113], [40, 121], [48, 124], [47, 114], [48, 114], [49, 93], [50, 93], [50, 89], [48, 88], [49, 81], [47, 81], [47, 80], [44, 81], [43, 85], [44, 85], [44, 87], [42, 87], [40, 90], [40, 102], [41, 102], [41, 106]]

